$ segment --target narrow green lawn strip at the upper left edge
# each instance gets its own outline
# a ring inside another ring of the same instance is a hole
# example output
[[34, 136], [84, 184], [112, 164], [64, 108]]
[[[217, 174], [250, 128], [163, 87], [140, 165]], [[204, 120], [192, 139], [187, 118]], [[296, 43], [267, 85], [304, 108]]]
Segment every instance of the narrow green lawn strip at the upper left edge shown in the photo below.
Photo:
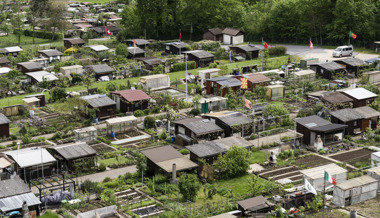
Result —
[[[63, 46], [63, 40], [51, 41], [50, 39], [40, 39], [35, 37], [35, 48], [38, 49], [40, 44], [50, 44], [51, 46]], [[30, 36], [21, 36], [21, 47], [23, 49], [32, 49], [33, 48], [33, 37]], [[0, 48], [10, 47], [10, 46], [19, 46], [18, 37], [14, 34], [8, 36], [0, 36]]]

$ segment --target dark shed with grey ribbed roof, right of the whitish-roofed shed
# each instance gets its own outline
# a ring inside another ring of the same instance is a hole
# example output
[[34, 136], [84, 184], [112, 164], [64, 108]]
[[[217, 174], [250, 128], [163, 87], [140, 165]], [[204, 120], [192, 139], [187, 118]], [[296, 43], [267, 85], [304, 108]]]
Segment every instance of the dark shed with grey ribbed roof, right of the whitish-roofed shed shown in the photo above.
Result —
[[[58, 166], [62, 171], [76, 172], [78, 166], [79, 168], [95, 166], [96, 151], [86, 142], [57, 145], [47, 149], [58, 160]], [[85, 169], [79, 169], [81, 170]]]

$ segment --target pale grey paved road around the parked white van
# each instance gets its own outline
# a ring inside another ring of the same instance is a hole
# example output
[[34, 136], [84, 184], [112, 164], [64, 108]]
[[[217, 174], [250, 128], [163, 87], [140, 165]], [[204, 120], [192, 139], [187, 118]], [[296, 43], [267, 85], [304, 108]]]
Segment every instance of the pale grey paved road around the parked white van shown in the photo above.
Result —
[[[309, 46], [304, 45], [282, 45], [278, 44], [279, 46], [285, 46], [287, 49], [287, 54], [289, 55], [298, 55], [301, 58], [319, 58], [320, 61], [332, 61], [332, 60], [339, 60], [340, 58], [333, 58], [332, 53], [334, 49], [326, 49], [326, 48], [320, 48], [320, 47], [314, 47], [313, 50], [310, 51]], [[255, 45], [258, 48], [262, 49], [262, 45]], [[363, 54], [359, 52], [355, 52], [354, 48], [354, 57], [359, 58], [362, 60], [368, 60], [371, 58], [378, 57], [376, 54]]]

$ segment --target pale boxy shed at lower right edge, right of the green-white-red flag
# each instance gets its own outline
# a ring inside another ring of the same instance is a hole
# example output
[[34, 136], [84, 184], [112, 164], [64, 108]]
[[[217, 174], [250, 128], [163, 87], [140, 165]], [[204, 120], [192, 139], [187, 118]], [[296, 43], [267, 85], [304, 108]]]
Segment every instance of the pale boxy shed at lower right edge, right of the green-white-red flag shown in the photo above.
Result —
[[378, 181], [364, 175], [338, 183], [334, 187], [333, 204], [345, 207], [366, 201], [377, 196]]

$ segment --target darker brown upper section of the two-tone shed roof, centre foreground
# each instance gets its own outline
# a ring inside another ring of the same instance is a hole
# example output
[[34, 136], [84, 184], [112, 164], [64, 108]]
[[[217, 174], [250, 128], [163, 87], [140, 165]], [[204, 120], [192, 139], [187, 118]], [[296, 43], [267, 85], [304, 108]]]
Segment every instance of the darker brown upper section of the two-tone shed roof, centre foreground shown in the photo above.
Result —
[[175, 150], [172, 146], [166, 145], [157, 148], [151, 148], [141, 151], [153, 163], [181, 158], [183, 155]]

